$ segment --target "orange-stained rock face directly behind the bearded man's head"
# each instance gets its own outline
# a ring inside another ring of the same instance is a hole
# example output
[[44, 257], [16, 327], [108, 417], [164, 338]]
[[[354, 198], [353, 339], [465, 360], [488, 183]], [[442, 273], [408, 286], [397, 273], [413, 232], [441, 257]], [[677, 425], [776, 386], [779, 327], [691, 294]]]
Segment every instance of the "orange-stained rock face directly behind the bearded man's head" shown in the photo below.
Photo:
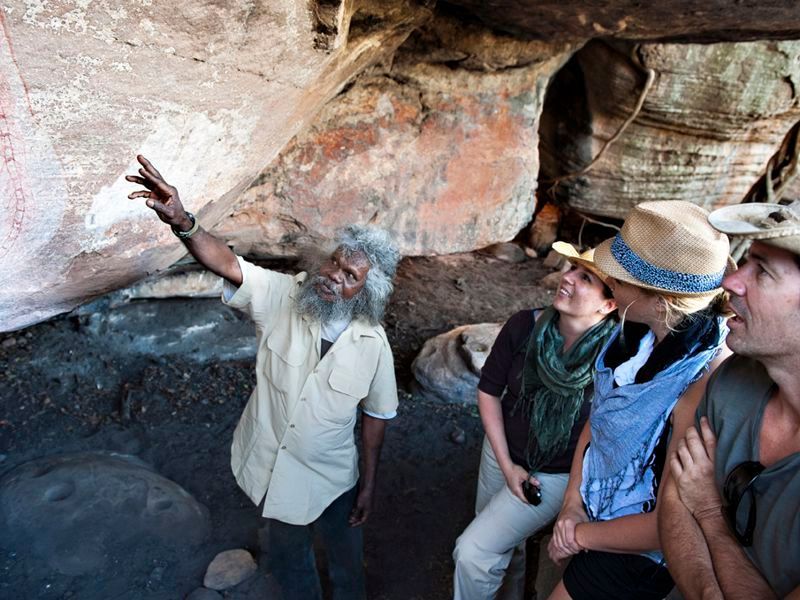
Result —
[[349, 223], [389, 229], [404, 255], [513, 238], [535, 206], [547, 83], [573, 48], [460, 27], [433, 23], [325, 106], [215, 233], [261, 255]]

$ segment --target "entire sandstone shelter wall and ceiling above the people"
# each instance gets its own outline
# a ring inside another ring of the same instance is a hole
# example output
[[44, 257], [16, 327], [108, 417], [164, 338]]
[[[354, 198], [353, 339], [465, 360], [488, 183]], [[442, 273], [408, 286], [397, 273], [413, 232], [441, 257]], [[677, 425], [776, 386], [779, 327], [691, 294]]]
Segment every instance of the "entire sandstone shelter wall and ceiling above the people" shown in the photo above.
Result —
[[559, 202], [737, 202], [800, 118], [788, 1], [8, 0], [0, 25], [0, 330], [185, 253], [125, 199], [137, 153], [243, 252], [358, 220], [424, 255], [513, 237], [626, 119]]

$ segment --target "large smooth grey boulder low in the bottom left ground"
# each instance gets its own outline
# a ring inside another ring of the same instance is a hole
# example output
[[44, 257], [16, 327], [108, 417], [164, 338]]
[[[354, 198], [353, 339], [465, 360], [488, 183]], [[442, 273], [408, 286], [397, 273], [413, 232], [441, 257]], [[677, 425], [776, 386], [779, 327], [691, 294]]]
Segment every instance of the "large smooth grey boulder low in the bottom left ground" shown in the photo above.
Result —
[[147, 544], [191, 550], [209, 531], [205, 506], [129, 455], [48, 456], [0, 479], [3, 546], [64, 575], [103, 570]]

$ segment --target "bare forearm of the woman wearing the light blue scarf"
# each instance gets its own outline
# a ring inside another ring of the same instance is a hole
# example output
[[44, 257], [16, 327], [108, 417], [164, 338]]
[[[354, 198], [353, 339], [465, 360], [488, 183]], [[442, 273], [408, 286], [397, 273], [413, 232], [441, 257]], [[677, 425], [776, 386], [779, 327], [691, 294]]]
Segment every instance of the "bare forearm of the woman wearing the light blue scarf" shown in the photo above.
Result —
[[655, 513], [579, 523], [575, 539], [586, 550], [630, 554], [659, 550]]

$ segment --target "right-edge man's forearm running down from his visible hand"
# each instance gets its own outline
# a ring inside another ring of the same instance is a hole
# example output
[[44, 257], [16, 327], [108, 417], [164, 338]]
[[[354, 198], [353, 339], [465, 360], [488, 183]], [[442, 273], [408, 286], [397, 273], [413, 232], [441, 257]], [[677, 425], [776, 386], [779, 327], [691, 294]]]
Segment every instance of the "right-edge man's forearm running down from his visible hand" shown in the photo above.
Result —
[[777, 598], [731, 535], [721, 510], [711, 515], [704, 515], [699, 522], [711, 553], [714, 572], [726, 600]]

